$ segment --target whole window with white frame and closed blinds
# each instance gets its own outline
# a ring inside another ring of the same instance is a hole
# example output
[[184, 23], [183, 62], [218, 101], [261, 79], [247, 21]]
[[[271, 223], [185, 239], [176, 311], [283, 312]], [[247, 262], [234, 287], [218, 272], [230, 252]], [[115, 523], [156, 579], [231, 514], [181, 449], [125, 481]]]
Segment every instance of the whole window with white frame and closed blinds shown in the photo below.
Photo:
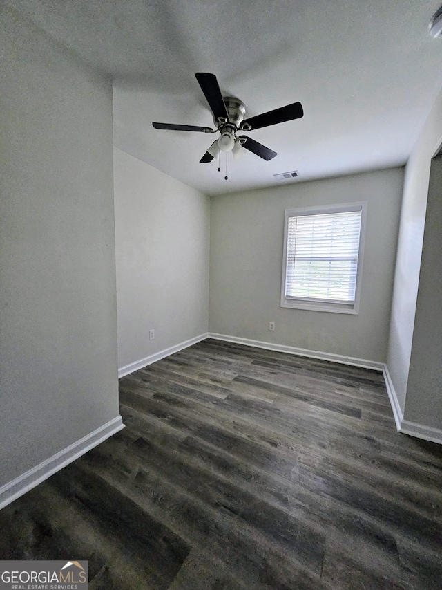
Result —
[[281, 307], [358, 313], [366, 209], [285, 211]]

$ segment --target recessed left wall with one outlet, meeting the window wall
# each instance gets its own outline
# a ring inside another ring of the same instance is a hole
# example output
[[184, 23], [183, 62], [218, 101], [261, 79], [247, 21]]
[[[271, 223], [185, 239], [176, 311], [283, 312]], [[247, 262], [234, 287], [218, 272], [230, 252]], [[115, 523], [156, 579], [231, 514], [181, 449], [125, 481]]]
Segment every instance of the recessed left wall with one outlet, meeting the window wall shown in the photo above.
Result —
[[121, 368], [206, 333], [210, 202], [119, 149], [114, 177]]

